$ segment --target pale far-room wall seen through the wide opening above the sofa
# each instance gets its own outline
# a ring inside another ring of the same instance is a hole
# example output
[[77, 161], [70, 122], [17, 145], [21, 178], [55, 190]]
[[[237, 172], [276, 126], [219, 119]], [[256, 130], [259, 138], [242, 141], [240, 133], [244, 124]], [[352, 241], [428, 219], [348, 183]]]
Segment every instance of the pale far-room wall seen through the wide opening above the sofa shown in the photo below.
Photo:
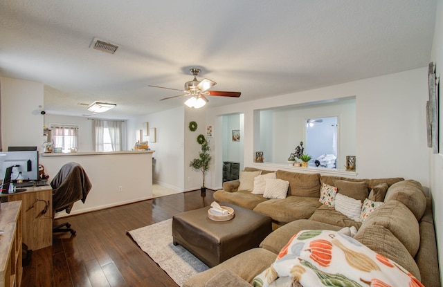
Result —
[[306, 154], [307, 120], [322, 117], [338, 117], [336, 167], [345, 169], [346, 156], [356, 154], [355, 96], [255, 110], [254, 150], [266, 154], [265, 163], [287, 165], [300, 142], [304, 142]]

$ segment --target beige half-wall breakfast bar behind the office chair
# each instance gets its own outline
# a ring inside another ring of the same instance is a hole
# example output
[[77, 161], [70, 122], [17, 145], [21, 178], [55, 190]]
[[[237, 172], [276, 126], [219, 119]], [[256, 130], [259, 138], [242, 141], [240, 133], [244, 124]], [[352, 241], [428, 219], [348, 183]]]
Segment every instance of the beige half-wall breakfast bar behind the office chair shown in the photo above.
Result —
[[[40, 154], [39, 164], [50, 177], [62, 165], [80, 163], [92, 183], [87, 201], [75, 203], [71, 214], [100, 210], [152, 198], [154, 151], [77, 152]], [[57, 217], [64, 216], [63, 212]]]

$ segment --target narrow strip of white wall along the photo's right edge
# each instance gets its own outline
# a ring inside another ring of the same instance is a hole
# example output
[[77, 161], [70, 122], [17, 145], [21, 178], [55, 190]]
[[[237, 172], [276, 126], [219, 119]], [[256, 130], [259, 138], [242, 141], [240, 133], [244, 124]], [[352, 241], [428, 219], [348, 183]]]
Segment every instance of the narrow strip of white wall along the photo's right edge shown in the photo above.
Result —
[[[435, 231], [437, 232], [437, 246], [443, 246], [443, 1], [437, 4], [437, 20], [435, 22], [434, 41], [431, 61], [436, 63], [437, 77], [440, 77], [440, 154], [431, 154], [431, 194], [433, 197], [433, 211], [435, 219]], [[443, 282], [443, 248], [439, 248], [440, 277]]]

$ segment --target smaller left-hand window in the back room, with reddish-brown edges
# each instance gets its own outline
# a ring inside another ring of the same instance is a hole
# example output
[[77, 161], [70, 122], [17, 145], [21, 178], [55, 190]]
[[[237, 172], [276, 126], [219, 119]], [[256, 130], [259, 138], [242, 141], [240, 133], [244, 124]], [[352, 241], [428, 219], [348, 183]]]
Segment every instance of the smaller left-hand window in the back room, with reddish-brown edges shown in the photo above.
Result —
[[51, 124], [51, 131], [54, 148], [61, 148], [64, 153], [78, 149], [78, 126]]

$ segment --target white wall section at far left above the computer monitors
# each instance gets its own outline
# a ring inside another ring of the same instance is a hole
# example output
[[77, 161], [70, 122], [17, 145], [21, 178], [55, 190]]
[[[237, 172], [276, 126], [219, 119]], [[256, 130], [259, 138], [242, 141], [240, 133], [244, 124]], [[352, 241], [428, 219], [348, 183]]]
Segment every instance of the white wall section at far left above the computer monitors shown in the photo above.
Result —
[[42, 146], [43, 84], [0, 77], [1, 139], [3, 150], [10, 146]]

